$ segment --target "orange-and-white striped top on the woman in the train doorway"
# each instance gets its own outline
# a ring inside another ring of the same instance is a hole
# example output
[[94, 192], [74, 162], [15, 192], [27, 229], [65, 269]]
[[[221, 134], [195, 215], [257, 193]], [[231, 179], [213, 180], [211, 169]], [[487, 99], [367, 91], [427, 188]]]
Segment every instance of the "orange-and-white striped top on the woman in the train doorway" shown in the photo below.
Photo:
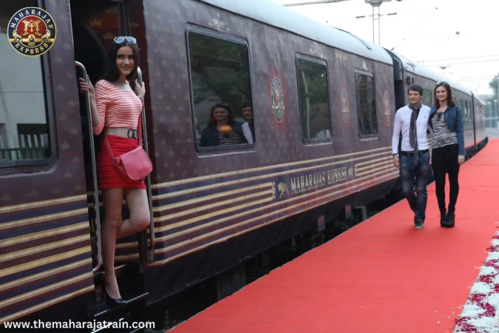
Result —
[[99, 135], [104, 127], [137, 128], [142, 101], [133, 90], [126, 91], [106, 80], [99, 80], [95, 83], [95, 103], [100, 117], [99, 125], [93, 127], [95, 135]]

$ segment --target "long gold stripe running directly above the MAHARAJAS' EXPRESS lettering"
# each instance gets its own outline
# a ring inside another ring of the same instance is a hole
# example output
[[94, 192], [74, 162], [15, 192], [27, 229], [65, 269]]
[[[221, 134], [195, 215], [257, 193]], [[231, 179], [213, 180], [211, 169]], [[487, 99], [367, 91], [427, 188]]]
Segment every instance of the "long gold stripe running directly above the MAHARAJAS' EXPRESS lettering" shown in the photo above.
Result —
[[199, 186], [199, 187], [195, 187], [192, 189], [156, 195], [156, 196], [153, 196], [153, 200], [163, 200], [163, 199], [167, 199], [167, 198], [177, 197], [180, 195], [192, 194], [192, 193], [205, 191], [205, 190], [212, 190], [212, 189], [220, 188], [223, 186], [238, 185], [238, 184], [242, 184], [242, 183], [246, 183], [246, 182], [250, 182], [250, 181], [258, 181], [258, 180], [262, 180], [265, 178], [273, 178], [273, 177], [278, 177], [278, 176], [282, 176], [282, 175], [289, 175], [289, 174], [293, 174], [293, 173], [304, 172], [304, 171], [314, 170], [314, 169], [318, 169], [318, 168], [324, 168], [324, 167], [329, 167], [329, 166], [333, 166], [333, 165], [344, 164], [344, 163], [348, 163], [348, 162], [354, 162], [356, 160], [372, 158], [374, 156], [382, 156], [382, 155], [387, 155], [387, 154], [388, 154], [388, 152], [372, 154], [372, 155], [367, 155], [367, 156], [362, 156], [362, 157], [357, 157], [357, 158], [351, 158], [348, 160], [341, 160], [341, 161], [335, 161], [335, 162], [326, 163], [326, 164], [314, 165], [314, 166], [300, 168], [300, 169], [279, 171], [279, 172], [264, 174], [264, 175], [260, 175], [260, 176], [253, 176], [253, 177], [249, 177], [249, 178], [240, 178], [240, 179], [231, 180], [231, 181], [222, 182], [222, 183], [217, 183], [217, 184], [212, 184], [212, 185]]

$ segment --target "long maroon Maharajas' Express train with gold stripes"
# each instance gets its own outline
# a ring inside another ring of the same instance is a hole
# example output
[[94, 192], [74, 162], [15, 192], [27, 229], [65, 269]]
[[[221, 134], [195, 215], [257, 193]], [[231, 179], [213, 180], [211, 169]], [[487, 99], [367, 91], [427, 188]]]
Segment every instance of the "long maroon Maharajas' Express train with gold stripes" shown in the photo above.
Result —
[[[55, 24], [39, 56], [7, 45], [7, 22], [26, 7]], [[370, 203], [400, 193], [392, 129], [411, 83], [424, 87], [426, 105], [437, 82], [450, 83], [467, 159], [488, 142], [485, 103], [471, 89], [270, 0], [17, 0], [0, 8], [9, 78], [0, 103], [0, 328], [161, 317], [172, 295], [208, 279], [217, 283], [206, 292], [222, 299], [244, 285], [250, 259], [265, 262], [270, 249], [296, 246], [352, 214], [367, 218]], [[117, 241], [126, 305], [114, 309], [102, 290], [100, 136], [77, 79], [88, 74], [95, 84], [119, 35], [138, 40], [153, 172], [151, 224]], [[251, 106], [251, 143], [200, 144], [219, 103], [241, 122]]]

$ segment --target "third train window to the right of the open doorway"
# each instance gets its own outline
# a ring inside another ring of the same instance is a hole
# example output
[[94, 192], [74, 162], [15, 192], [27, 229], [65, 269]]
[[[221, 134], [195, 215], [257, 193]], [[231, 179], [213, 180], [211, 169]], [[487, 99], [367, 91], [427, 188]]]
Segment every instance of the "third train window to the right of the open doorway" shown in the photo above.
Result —
[[374, 99], [374, 75], [369, 72], [355, 71], [355, 91], [357, 99], [357, 117], [359, 136], [376, 136], [376, 102]]

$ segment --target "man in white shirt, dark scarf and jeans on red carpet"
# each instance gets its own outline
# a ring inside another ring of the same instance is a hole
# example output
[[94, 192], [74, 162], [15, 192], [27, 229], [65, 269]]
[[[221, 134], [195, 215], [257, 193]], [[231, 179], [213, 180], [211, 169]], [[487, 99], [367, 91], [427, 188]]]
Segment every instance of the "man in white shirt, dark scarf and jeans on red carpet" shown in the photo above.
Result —
[[[427, 140], [430, 107], [421, 104], [423, 87], [411, 84], [407, 89], [409, 104], [395, 113], [393, 126], [392, 153], [393, 164], [400, 168], [402, 191], [414, 212], [416, 229], [421, 229], [425, 222], [428, 192], [426, 186], [431, 175], [430, 151]], [[399, 137], [402, 132], [400, 165], [398, 156]], [[416, 184], [416, 194], [414, 193]]]

